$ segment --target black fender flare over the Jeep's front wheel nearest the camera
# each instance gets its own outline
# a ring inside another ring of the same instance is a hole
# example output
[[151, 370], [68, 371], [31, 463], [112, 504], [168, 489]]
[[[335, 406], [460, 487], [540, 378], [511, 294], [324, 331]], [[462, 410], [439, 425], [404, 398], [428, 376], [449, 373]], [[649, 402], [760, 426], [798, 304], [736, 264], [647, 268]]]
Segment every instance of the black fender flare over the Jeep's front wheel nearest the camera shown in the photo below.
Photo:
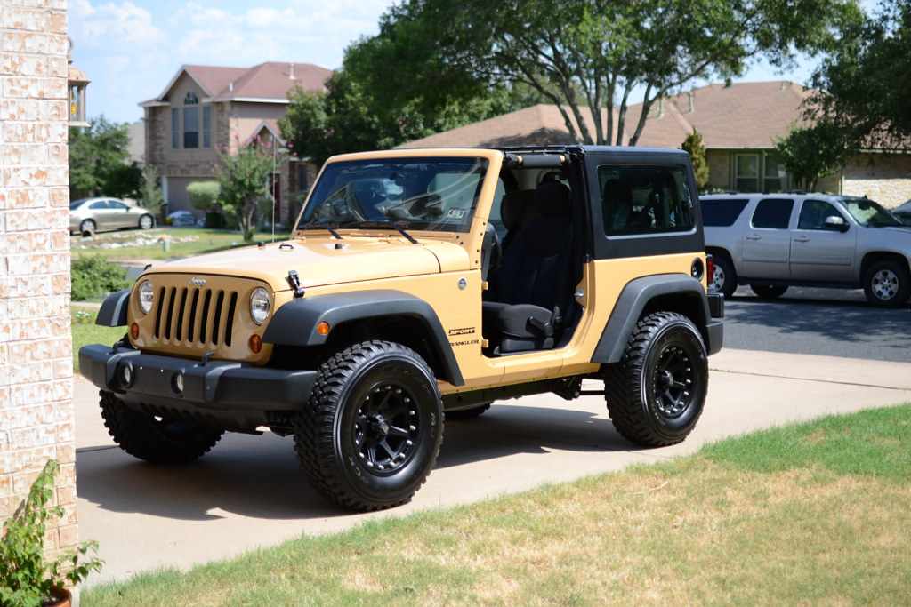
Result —
[[445, 371], [443, 379], [454, 386], [465, 384], [455, 353], [434, 309], [424, 299], [394, 289], [351, 291], [294, 299], [275, 310], [262, 334], [262, 340], [283, 346], [322, 346], [328, 335], [321, 335], [317, 331], [320, 322], [324, 321], [333, 328], [351, 320], [389, 316], [415, 319], [420, 323], [439, 355]]

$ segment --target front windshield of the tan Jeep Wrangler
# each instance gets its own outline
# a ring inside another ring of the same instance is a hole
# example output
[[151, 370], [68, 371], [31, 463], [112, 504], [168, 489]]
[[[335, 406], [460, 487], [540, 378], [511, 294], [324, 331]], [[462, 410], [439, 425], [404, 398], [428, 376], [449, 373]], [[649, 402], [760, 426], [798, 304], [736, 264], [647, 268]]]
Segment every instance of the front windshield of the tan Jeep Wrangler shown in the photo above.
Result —
[[486, 175], [484, 158], [365, 159], [327, 165], [298, 229], [399, 228], [465, 232]]

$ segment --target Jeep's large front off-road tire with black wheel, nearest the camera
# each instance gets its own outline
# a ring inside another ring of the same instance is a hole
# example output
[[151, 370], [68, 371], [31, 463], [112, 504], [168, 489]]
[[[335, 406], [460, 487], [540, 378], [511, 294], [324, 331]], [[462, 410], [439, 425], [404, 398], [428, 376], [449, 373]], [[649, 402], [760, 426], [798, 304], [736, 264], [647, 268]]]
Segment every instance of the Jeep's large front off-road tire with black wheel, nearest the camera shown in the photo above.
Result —
[[414, 350], [364, 341], [326, 360], [295, 416], [294, 450], [312, 487], [356, 511], [409, 501], [443, 441], [443, 400]]

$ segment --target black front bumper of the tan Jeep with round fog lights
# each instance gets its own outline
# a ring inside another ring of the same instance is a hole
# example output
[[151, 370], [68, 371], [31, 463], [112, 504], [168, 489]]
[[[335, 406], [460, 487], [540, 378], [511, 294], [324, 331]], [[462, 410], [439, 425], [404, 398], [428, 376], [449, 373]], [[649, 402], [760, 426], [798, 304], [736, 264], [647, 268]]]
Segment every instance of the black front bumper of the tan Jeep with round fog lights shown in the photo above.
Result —
[[310, 399], [315, 370], [267, 369], [225, 360], [189, 360], [102, 344], [79, 349], [80, 372], [128, 405], [189, 417], [198, 414], [227, 430], [269, 425], [269, 415], [300, 410]]

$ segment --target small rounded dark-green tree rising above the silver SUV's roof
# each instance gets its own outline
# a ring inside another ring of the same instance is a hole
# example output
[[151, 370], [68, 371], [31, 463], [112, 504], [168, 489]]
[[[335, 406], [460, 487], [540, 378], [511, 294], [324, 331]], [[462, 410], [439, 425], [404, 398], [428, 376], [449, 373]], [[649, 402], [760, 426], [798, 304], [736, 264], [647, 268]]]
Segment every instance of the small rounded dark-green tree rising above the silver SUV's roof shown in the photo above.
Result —
[[794, 186], [807, 192], [816, 189], [819, 177], [841, 168], [848, 154], [844, 133], [827, 123], [793, 127], [787, 137], [776, 138], [774, 147], [793, 177]]

